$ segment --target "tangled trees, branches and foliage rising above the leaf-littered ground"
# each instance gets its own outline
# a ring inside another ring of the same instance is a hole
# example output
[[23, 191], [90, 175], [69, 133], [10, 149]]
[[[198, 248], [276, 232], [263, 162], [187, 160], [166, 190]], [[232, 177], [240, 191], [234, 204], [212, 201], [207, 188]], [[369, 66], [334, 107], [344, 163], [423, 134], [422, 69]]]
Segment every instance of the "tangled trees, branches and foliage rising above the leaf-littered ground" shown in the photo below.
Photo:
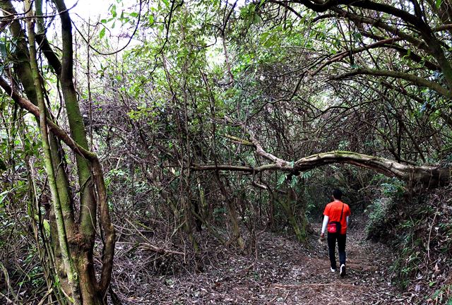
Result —
[[[115, 0], [96, 17], [73, 5], [0, 1], [12, 304], [119, 301], [117, 242], [143, 246], [131, 236], [201, 270], [210, 239], [253, 253], [258, 232], [289, 228], [308, 244], [334, 187], [357, 214], [392, 213], [386, 199], [432, 206], [422, 196], [451, 181], [448, 0]], [[33, 260], [44, 276], [21, 296]]]

